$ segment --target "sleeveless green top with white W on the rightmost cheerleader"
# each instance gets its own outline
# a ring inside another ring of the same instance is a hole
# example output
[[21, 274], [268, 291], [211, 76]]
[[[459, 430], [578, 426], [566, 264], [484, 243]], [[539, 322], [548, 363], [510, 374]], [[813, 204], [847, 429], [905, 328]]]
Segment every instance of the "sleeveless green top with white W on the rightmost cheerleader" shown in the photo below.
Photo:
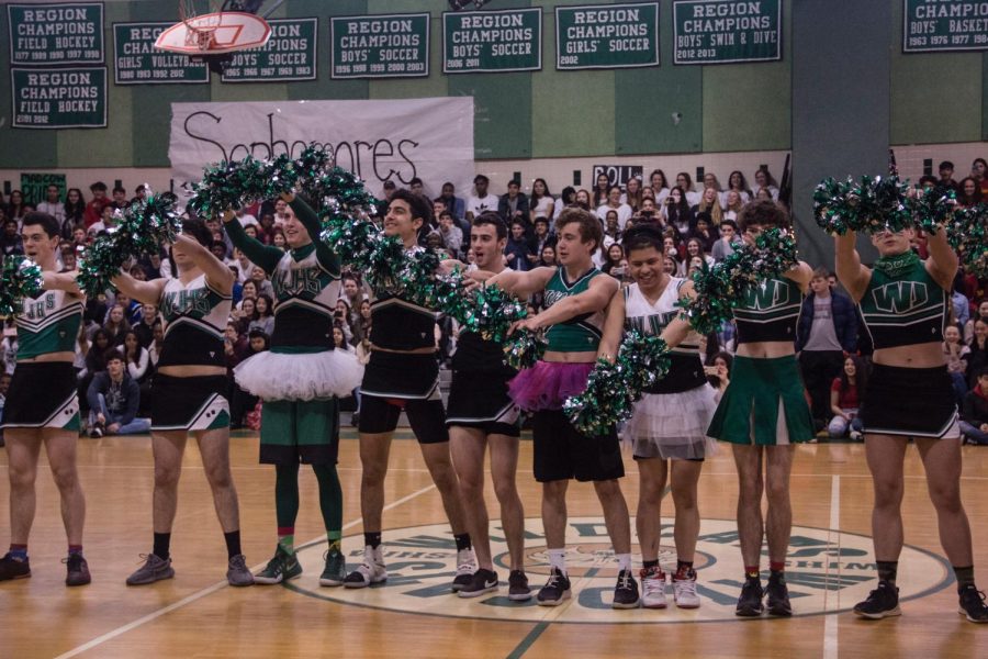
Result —
[[942, 342], [950, 303], [946, 291], [917, 258], [894, 276], [872, 270], [858, 309], [878, 350]]

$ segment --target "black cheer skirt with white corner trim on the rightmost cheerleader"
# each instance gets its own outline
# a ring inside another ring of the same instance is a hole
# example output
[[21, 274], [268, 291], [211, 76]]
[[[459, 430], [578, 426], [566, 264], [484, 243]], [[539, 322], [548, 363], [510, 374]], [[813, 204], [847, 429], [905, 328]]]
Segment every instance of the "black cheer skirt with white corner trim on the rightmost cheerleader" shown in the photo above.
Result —
[[955, 439], [957, 400], [946, 366], [872, 366], [858, 415], [865, 437], [899, 435]]

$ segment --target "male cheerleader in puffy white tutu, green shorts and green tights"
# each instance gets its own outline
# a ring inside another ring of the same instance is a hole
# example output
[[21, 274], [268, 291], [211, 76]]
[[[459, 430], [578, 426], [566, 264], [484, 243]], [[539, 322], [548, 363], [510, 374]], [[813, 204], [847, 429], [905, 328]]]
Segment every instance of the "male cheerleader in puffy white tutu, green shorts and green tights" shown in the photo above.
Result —
[[319, 220], [293, 194], [282, 225], [288, 250], [249, 237], [233, 213], [224, 217], [231, 239], [252, 264], [263, 268], [274, 288], [271, 349], [240, 362], [235, 376], [242, 389], [260, 398], [260, 461], [274, 465], [278, 547], [255, 583], [273, 584], [302, 573], [295, 557], [299, 514], [299, 463], [312, 465], [319, 483], [319, 509], [329, 548], [322, 585], [339, 585], [346, 577], [340, 550], [343, 489], [336, 472], [339, 451], [339, 404], [360, 382], [362, 369], [352, 354], [334, 349], [333, 314], [339, 298], [339, 259], [319, 235]]

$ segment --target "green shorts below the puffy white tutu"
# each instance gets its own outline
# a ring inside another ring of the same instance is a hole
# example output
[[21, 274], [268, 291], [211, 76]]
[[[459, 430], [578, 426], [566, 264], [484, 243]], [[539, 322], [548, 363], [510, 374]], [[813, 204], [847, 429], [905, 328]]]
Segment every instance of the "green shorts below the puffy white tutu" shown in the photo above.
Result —
[[339, 401], [265, 401], [261, 405], [262, 465], [336, 465]]

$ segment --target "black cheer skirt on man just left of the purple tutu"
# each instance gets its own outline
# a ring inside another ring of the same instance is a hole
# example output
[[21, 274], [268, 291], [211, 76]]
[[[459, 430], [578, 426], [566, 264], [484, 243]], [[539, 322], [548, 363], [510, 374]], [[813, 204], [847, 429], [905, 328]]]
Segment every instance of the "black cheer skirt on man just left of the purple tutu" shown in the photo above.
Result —
[[486, 435], [520, 436], [520, 410], [507, 394], [509, 379], [454, 370], [446, 404], [446, 425], [480, 428]]

